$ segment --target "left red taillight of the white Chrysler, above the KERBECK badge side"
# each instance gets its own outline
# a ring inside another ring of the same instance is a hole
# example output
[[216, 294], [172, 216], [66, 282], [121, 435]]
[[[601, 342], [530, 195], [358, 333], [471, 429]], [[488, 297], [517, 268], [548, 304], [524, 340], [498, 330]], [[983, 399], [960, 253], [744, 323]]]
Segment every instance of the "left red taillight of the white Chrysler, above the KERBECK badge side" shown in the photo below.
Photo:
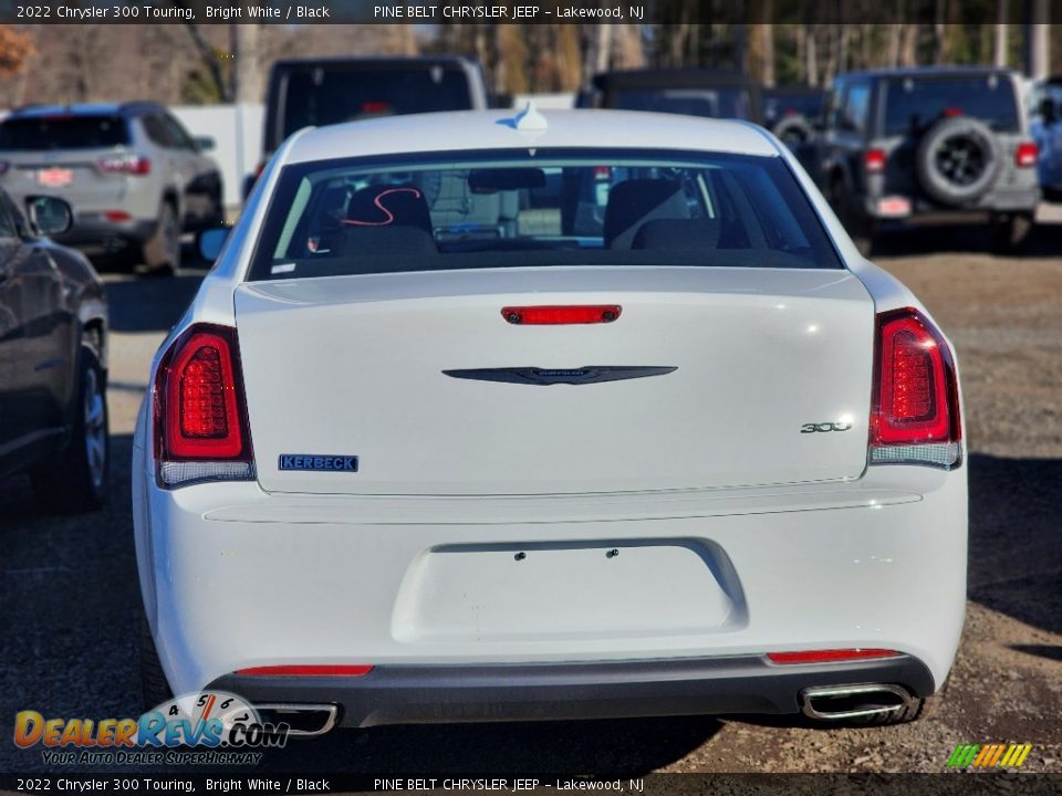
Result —
[[163, 486], [254, 478], [236, 329], [197, 324], [155, 379], [155, 459]]

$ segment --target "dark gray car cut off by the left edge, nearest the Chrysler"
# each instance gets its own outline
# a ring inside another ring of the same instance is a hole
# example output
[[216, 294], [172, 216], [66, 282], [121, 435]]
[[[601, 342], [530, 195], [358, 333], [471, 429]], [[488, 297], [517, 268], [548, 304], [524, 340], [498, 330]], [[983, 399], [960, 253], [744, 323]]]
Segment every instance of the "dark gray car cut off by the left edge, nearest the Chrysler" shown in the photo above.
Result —
[[50, 509], [103, 503], [107, 479], [103, 283], [81, 252], [58, 245], [70, 206], [0, 189], [0, 478], [28, 472]]

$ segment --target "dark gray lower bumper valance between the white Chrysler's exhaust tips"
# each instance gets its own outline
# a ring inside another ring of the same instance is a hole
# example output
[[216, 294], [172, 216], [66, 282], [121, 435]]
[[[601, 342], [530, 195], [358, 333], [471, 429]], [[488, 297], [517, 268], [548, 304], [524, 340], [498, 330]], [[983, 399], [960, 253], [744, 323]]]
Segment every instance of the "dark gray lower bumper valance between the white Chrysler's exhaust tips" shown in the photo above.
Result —
[[251, 704], [336, 704], [345, 727], [476, 721], [555, 721], [719, 713], [796, 713], [812, 687], [889, 683], [935, 690], [909, 656], [775, 666], [761, 656], [624, 662], [402, 667], [358, 678], [231, 674], [211, 689]]

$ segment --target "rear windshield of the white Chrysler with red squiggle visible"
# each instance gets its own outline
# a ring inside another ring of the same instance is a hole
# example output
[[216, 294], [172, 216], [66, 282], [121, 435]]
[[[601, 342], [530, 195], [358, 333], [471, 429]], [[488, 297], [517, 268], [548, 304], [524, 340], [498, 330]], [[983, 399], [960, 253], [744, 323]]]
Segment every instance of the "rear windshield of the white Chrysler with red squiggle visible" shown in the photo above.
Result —
[[288, 166], [251, 279], [565, 265], [841, 268], [779, 158], [538, 149]]

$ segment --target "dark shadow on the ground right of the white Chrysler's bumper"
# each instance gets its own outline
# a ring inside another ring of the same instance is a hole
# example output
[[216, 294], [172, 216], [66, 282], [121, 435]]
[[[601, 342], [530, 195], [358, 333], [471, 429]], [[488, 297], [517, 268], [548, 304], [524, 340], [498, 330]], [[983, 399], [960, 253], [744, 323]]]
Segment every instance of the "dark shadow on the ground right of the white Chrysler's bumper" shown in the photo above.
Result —
[[1062, 460], [975, 453], [969, 467], [970, 599], [1062, 633]]

